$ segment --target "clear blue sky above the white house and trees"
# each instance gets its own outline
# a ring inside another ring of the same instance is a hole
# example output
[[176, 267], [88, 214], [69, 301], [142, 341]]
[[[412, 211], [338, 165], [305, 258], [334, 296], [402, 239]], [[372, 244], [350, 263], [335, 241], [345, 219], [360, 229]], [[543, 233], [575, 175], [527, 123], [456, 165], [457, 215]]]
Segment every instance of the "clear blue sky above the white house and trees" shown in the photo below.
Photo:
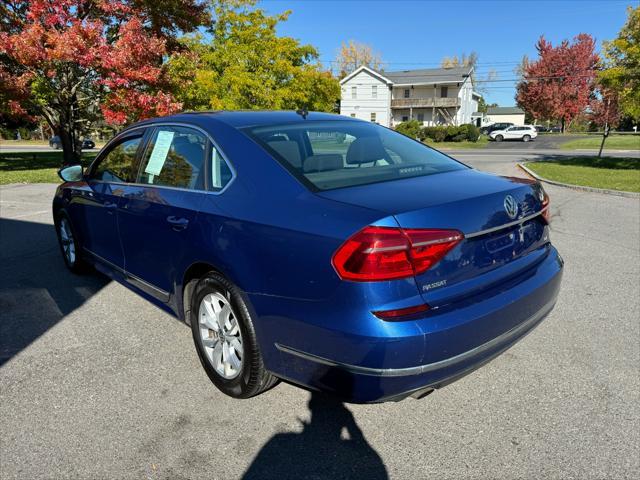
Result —
[[310, 43], [330, 65], [340, 44], [370, 44], [387, 70], [437, 67], [442, 57], [478, 53], [478, 74], [493, 69], [497, 82], [483, 84], [489, 103], [514, 105], [513, 69], [527, 54], [535, 58], [541, 34], [554, 44], [578, 33], [614, 38], [631, 0], [263, 0], [270, 13], [292, 10], [278, 32]]

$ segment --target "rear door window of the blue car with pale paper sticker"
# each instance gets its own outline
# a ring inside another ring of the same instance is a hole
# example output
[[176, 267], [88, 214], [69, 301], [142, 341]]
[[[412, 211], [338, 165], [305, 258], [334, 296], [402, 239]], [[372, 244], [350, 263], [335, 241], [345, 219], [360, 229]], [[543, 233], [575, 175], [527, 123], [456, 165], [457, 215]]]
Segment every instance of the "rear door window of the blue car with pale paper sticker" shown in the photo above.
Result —
[[138, 183], [204, 190], [207, 138], [187, 127], [160, 126], [142, 158]]

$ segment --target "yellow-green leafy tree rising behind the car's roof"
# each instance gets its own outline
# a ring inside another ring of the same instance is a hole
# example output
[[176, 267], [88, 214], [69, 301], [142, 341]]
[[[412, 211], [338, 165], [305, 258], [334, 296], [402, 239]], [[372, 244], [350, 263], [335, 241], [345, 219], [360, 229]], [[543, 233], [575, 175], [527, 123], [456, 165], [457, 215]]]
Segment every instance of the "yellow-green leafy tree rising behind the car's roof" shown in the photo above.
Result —
[[210, 37], [188, 36], [167, 71], [185, 109], [331, 111], [340, 87], [318, 51], [276, 33], [290, 12], [268, 15], [255, 0], [214, 0]]

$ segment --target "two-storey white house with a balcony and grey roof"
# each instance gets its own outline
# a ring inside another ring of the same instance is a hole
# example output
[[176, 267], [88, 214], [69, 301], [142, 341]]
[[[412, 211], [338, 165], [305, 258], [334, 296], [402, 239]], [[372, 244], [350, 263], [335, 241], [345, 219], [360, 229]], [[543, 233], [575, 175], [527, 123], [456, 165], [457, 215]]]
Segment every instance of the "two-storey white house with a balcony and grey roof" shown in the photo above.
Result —
[[393, 127], [410, 119], [423, 125], [471, 123], [480, 95], [472, 67], [378, 72], [361, 66], [340, 81], [340, 114]]

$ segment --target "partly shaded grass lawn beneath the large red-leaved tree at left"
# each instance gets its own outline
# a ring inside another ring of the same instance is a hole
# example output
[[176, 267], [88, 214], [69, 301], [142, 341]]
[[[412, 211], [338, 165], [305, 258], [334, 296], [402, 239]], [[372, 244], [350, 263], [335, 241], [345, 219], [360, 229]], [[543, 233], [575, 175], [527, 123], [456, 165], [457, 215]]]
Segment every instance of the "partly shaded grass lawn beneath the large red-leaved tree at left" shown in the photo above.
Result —
[[[97, 153], [83, 153], [83, 164], [87, 165]], [[0, 185], [59, 183], [57, 172], [61, 164], [62, 152], [0, 153]]]

